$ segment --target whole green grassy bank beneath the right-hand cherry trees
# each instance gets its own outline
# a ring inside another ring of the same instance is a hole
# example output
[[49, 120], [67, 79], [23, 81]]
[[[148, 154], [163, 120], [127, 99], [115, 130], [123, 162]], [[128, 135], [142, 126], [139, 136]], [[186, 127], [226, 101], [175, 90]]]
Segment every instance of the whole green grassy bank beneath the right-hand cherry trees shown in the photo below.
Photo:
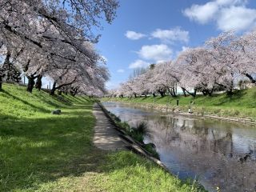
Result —
[[[234, 95], [215, 94], [212, 97], [198, 95], [195, 98], [188, 96], [179, 96], [171, 98], [170, 96], [139, 97], [139, 98], [102, 98], [102, 101], [116, 102], [135, 102], [154, 103], [154, 106], [168, 106], [172, 110], [187, 112], [190, 107], [190, 101], [193, 101], [192, 110], [199, 114], [217, 114], [223, 117], [251, 118], [256, 121], [256, 88], [249, 90], [236, 90]], [[177, 106], [177, 100], [179, 106]], [[155, 102], [154, 102], [155, 101]]]

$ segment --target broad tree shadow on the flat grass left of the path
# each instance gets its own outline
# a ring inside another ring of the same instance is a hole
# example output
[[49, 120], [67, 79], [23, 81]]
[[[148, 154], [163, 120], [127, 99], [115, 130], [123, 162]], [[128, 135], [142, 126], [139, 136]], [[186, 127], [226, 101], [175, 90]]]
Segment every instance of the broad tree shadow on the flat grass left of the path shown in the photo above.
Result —
[[[0, 122], [0, 191], [36, 190], [44, 183], [86, 172], [108, 172], [134, 165], [124, 159], [106, 166], [110, 156], [94, 148], [91, 105], [69, 114]], [[123, 157], [125, 158], [125, 157]]]

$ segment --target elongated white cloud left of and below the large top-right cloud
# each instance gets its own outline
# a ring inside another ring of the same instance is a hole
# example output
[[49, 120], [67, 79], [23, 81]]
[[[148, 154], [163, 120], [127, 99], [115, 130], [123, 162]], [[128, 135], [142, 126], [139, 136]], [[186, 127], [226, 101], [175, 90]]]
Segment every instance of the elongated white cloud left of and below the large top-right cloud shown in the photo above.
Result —
[[189, 42], [189, 32], [176, 27], [170, 30], [157, 29], [151, 34], [153, 38], [159, 38], [163, 42]]

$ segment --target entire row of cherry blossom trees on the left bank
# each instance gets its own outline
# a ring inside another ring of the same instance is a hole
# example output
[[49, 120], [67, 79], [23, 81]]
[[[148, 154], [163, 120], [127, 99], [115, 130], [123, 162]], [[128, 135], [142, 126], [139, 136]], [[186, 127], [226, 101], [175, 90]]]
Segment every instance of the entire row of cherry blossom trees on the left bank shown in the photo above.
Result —
[[0, 1], [0, 89], [14, 66], [28, 78], [27, 90], [50, 77], [55, 90], [99, 94], [109, 78], [105, 61], [94, 48], [101, 21], [111, 23], [116, 0]]

